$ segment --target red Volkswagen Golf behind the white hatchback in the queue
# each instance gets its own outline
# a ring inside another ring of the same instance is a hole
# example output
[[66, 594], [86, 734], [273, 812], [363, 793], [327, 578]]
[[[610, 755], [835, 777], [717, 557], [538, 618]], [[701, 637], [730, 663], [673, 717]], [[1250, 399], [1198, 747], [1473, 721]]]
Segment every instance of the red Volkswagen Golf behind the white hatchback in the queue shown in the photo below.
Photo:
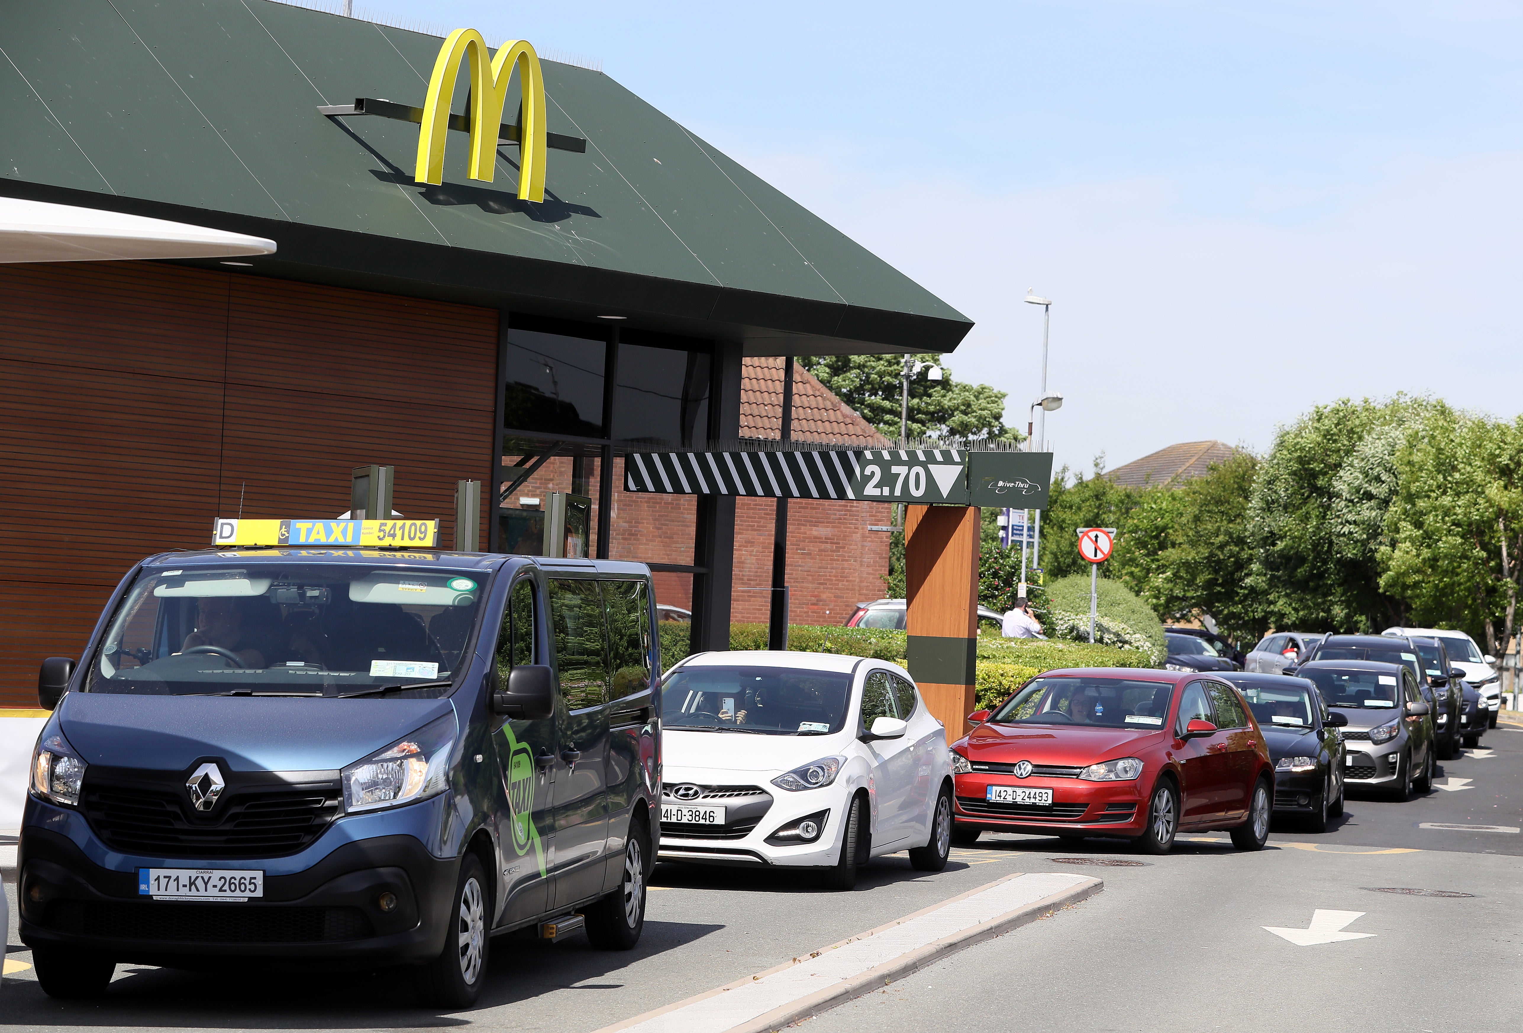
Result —
[[1125, 836], [1167, 853], [1179, 832], [1269, 838], [1275, 766], [1253, 713], [1200, 672], [1094, 667], [1028, 681], [952, 744], [952, 838], [984, 830]]

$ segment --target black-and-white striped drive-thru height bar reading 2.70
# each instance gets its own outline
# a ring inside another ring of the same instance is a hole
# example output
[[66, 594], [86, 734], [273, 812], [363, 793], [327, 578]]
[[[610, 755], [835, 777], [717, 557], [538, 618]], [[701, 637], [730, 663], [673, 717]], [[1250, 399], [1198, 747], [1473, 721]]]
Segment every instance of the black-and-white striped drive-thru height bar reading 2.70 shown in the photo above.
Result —
[[955, 449], [631, 453], [624, 491], [967, 504]]

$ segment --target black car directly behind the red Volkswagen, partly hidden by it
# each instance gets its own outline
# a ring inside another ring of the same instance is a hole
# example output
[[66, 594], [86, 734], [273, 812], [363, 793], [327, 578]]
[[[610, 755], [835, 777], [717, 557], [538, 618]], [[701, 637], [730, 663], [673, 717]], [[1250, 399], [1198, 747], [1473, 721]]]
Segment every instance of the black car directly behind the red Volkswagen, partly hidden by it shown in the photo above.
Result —
[[1275, 814], [1305, 817], [1313, 832], [1343, 814], [1343, 737], [1348, 724], [1316, 684], [1284, 675], [1223, 675], [1258, 719], [1275, 762]]

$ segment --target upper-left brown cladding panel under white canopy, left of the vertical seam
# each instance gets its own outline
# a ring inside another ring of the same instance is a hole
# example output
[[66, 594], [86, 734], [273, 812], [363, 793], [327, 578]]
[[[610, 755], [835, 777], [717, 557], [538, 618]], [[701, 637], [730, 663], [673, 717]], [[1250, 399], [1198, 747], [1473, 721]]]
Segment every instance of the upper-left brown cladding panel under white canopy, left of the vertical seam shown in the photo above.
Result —
[[228, 279], [148, 262], [0, 265], [0, 347], [12, 360], [221, 381]]

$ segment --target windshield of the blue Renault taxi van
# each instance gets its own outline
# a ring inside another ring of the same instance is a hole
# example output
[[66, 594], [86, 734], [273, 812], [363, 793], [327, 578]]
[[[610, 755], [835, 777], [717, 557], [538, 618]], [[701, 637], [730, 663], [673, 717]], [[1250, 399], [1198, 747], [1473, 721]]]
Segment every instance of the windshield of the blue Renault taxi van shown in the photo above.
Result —
[[364, 564], [148, 570], [113, 614], [85, 692], [443, 695], [480, 577]]

